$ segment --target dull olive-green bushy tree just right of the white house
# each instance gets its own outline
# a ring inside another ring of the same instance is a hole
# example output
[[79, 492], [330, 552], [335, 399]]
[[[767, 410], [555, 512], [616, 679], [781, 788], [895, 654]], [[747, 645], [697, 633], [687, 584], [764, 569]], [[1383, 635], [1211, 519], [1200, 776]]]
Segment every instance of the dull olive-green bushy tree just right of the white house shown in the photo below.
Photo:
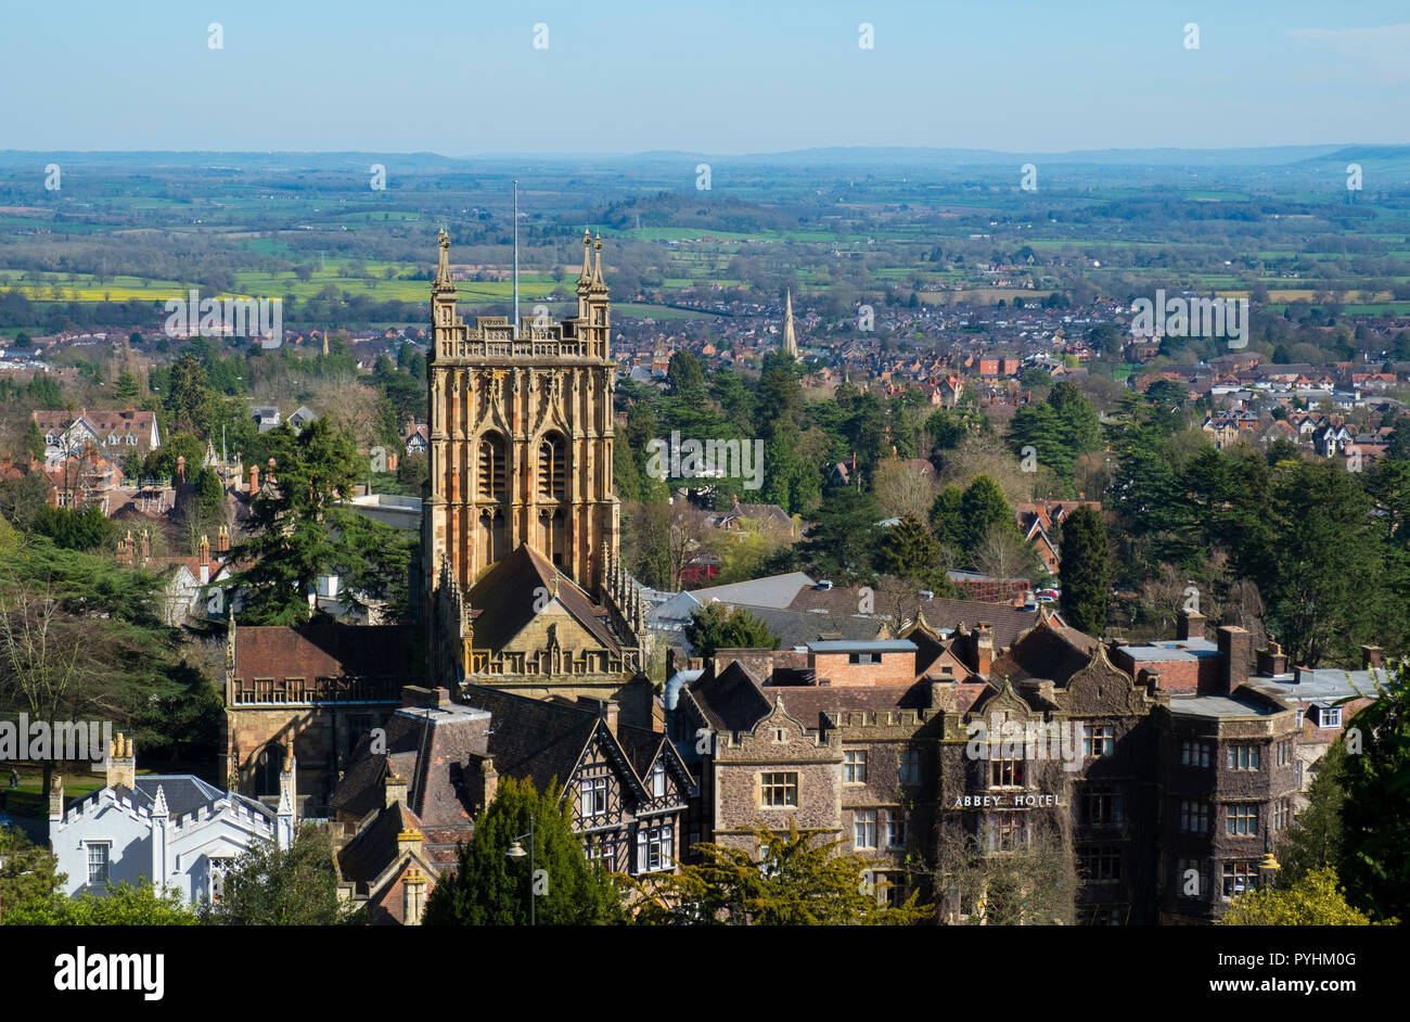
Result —
[[326, 830], [305, 823], [288, 849], [259, 842], [226, 873], [224, 897], [203, 901], [200, 919], [221, 926], [330, 926], [350, 912]]

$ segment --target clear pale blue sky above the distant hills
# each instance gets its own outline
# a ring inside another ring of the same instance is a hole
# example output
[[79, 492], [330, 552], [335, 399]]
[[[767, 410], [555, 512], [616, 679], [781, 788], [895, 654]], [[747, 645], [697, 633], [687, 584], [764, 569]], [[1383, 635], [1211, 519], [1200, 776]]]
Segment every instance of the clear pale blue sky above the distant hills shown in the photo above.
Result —
[[1407, 52], [1380, 0], [7, 0], [0, 149], [1403, 144]]

